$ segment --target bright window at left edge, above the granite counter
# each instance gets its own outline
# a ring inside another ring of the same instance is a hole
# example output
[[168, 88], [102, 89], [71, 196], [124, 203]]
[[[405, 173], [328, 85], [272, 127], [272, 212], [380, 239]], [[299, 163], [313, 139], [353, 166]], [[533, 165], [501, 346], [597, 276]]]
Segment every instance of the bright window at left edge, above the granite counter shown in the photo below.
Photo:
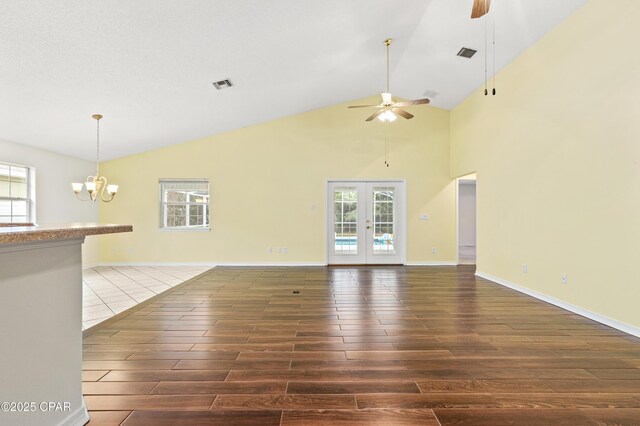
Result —
[[29, 167], [0, 163], [0, 223], [34, 221]]

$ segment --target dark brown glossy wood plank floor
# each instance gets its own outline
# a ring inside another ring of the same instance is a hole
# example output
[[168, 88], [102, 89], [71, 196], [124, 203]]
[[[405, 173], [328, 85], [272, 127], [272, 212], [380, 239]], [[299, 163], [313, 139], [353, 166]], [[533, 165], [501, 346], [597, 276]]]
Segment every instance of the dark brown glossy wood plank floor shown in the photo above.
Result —
[[472, 266], [215, 268], [89, 330], [83, 378], [91, 426], [640, 425], [640, 339]]

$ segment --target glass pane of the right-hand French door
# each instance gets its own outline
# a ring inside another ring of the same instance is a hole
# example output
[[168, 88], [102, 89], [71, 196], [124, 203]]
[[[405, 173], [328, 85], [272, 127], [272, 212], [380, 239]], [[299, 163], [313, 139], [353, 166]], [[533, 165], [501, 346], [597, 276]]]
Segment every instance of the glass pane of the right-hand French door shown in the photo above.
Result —
[[373, 188], [373, 253], [396, 254], [394, 188]]

